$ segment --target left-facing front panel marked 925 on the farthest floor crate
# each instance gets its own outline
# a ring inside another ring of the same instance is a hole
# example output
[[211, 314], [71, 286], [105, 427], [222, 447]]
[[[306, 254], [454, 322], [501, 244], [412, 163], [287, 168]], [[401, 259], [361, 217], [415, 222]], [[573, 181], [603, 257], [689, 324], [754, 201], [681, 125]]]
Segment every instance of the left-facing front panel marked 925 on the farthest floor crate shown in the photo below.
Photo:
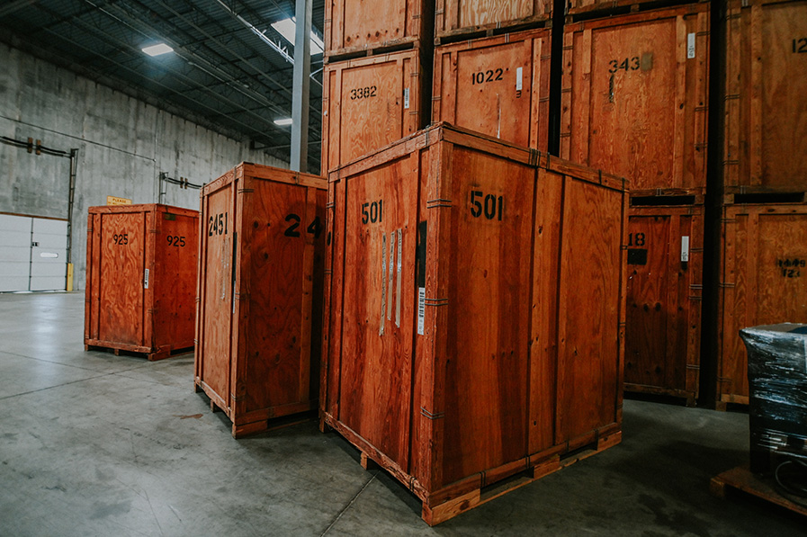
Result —
[[103, 214], [101, 222], [98, 339], [126, 345], [143, 341], [146, 213]]

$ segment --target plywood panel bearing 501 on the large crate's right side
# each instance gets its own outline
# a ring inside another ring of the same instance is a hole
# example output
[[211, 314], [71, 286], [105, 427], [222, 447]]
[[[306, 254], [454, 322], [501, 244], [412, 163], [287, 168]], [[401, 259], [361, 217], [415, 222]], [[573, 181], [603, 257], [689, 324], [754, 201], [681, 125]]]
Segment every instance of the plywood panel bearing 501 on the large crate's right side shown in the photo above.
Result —
[[443, 482], [526, 453], [534, 169], [453, 150]]

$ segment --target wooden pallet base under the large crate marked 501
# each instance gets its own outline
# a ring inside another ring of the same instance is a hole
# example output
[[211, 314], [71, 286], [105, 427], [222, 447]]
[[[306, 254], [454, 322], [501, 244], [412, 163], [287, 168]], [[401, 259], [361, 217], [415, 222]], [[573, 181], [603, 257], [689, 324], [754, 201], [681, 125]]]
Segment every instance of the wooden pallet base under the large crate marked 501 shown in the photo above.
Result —
[[[320, 422], [320, 426], [324, 426], [324, 422]], [[515, 475], [508, 476], [505, 479], [500, 479], [494, 483], [485, 484], [483, 487], [475, 488], [458, 497], [451, 497], [442, 503], [429, 505], [427, 501], [423, 502], [421, 516], [426, 524], [434, 526], [436, 524], [444, 523], [445, 521], [460, 515], [465, 511], [469, 511], [474, 507], [481, 506], [488, 503], [490, 500], [496, 499], [500, 496], [507, 494], [516, 488], [529, 485], [537, 479], [541, 479], [549, 474], [562, 470], [577, 461], [582, 461], [588, 457], [602, 452], [605, 449], [613, 447], [622, 441], [622, 432], [616, 432], [608, 436], [600, 438], [596, 443], [591, 443], [574, 452], [569, 452], [564, 455], [555, 454], [549, 458], [543, 459], [534, 463], [524, 471], [518, 472]], [[361, 452], [361, 464], [365, 470], [386, 470], [377, 461], [373, 461], [371, 456], [365, 452]], [[393, 473], [393, 476], [396, 474]], [[480, 482], [484, 482], [481, 479]], [[433, 497], [444, 497], [442, 491], [437, 491], [432, 494]], [[450, 496], [450, 495], [449, 495]]]

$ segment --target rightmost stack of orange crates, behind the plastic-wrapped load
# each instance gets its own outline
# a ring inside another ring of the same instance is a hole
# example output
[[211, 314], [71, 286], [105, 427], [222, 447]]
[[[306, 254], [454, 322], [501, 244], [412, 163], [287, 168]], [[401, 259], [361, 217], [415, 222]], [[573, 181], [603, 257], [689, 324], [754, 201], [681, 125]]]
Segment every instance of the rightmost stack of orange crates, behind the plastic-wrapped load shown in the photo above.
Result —
[[716, 403], [748, 404], [739, 330], [807, 322], [807, 2], [730, 0]]

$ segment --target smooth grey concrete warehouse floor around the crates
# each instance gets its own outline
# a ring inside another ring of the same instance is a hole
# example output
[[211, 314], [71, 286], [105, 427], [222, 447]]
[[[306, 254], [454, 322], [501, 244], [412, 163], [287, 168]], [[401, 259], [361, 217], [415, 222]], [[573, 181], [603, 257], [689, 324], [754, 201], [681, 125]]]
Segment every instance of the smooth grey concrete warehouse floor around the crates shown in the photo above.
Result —
[[748, 417], [625, 401], [623, 443], [435, 528], [309, 421], [235, 441], [193, 354], [85, 352], [84, 294], [0, 294], [0, 535], [804, 535], [709, 495]]

